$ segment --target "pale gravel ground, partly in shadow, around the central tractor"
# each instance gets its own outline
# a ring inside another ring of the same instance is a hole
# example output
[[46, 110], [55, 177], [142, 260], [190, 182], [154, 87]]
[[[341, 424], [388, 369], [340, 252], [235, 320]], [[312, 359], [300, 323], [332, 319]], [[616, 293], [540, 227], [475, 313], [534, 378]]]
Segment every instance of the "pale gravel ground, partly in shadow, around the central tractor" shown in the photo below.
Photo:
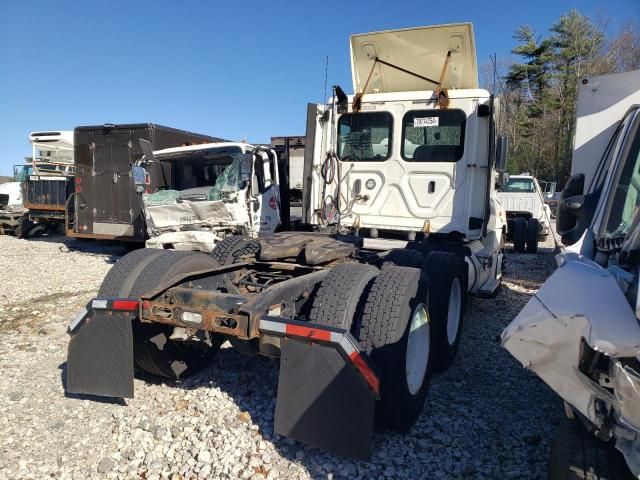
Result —
[[496, 299], [468, 302], [453, 367], [418, 423], [376, 433], [371, 462], [277, 437], [277, 363], [224, 348], [180, 384], [136, 379], [136, 398], [65, 396], [70, 319], [124, 251], [0, 236], [0, 478], [543, 478], [556, 395], [499, 335], [554, 269], [552, 248], [510, 253]]

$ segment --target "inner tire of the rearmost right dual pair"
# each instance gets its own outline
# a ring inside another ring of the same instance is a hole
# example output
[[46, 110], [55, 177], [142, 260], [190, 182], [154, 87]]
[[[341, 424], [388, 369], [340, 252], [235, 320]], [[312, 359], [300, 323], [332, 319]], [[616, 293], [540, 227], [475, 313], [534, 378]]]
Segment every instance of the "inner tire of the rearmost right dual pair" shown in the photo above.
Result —
[[313, 298], [309, 321], [351, 330], [362, 310], [371, 281], [379, 270], [373, 265], [345, 263], [331, 269]]

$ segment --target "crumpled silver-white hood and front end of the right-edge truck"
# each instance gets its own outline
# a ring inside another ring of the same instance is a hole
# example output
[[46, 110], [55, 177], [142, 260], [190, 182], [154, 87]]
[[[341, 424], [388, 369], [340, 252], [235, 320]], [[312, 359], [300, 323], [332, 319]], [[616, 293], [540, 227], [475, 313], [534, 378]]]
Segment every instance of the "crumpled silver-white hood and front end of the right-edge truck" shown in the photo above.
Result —
[[502, 344], [640, 473], [640, 325], [620, 288], [632, 276], [575, 253], [559, 262]]

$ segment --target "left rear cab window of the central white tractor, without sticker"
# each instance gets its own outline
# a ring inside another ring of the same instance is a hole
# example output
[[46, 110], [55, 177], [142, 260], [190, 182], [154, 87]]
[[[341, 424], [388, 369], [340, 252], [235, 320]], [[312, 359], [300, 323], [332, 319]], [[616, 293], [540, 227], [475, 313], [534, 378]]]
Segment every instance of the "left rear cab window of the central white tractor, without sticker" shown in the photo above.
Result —
[[338, 156], [350, 162], [384, 161], [391, 153], [389, 112], [347, 113], [338, 121]]

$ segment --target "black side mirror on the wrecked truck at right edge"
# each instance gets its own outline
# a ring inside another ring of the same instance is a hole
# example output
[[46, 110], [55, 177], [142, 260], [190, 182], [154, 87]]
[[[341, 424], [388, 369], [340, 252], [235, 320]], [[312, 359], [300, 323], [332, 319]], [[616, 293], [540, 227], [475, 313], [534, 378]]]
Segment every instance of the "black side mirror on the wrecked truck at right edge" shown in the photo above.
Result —
[[584, 174], [573, 175], [560, 194], [556, 230], [565, 245], [573, 245], [591, 223], [600, 191], [584, 193]]

